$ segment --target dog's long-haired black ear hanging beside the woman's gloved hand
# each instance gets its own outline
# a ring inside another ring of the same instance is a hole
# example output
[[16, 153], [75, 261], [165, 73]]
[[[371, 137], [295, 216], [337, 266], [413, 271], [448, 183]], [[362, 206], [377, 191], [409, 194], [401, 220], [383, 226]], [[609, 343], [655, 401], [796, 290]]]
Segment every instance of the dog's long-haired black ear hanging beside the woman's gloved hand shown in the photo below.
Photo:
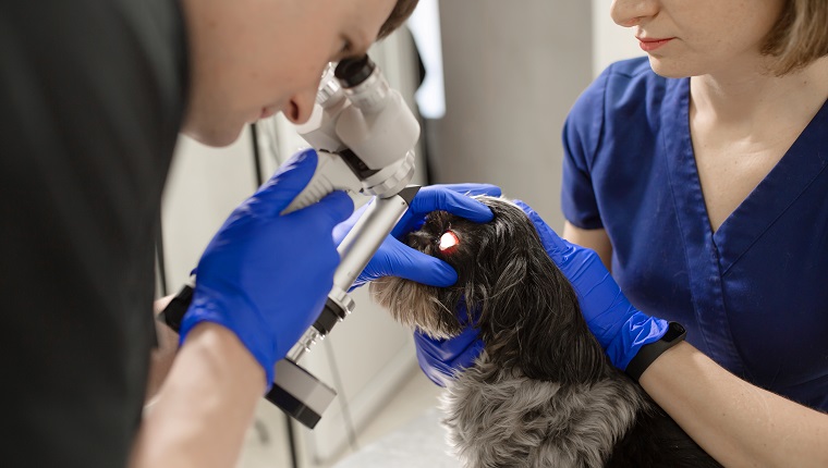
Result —
[[482, 253], [488, 258], [479, 260], [491, 275], [478, 323], [487, 353], [532, 379], [574, 383], [599, 377], [606, 357], [571, 284], [528, 218], [516, 207], [501, 211], [496, 215], [504, 225]]

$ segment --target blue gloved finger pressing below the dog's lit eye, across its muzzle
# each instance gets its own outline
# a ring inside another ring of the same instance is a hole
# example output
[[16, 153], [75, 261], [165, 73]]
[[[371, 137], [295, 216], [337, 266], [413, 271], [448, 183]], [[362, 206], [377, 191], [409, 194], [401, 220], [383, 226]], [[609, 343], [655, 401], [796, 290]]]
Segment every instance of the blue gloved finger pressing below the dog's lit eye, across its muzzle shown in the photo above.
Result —
[[458, 273], [449, 263], [413, 249], [394, 237], [386, 239], [365, 270], [372, 280], [399, 276], [437, 287], [451, 286], [458, 281]]

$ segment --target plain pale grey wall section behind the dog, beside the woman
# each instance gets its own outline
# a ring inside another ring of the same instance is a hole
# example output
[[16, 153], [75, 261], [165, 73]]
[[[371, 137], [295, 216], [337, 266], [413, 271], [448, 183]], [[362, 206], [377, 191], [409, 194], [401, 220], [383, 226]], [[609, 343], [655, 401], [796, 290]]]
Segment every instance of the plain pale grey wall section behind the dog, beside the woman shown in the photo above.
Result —
[[559, 229], [563, 120], [593, 76], [590, 3], [442, 0], [437, 182], [487, 182]]

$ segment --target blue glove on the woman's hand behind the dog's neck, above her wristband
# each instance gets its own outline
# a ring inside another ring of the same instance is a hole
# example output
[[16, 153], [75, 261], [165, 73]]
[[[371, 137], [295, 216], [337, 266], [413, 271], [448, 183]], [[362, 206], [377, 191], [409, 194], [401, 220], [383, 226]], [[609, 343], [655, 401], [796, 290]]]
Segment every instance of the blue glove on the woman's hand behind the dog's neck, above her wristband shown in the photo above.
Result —
[[560, 238], [535, 210], [520, 200], [516, 204], [535, 224], [549, 257], [572, 283], [589, 330], [612, 364], [625, 370], [642, 346], [667, 333], [668, 322], [633, 307], [598, 254]]

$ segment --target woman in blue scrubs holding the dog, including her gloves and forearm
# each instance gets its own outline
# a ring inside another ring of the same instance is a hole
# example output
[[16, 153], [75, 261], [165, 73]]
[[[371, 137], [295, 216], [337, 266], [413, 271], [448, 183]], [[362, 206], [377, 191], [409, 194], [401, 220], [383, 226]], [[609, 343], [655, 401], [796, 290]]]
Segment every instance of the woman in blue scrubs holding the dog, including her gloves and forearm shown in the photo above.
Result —
[[[524, 209], [611, 360], [710, 455], [828, 466], [828, 3], [613, 0], [612, 17], [647, 58], [567, 121], [576, 245]], [[482, 346], [415, 338], [435, 380]]]

